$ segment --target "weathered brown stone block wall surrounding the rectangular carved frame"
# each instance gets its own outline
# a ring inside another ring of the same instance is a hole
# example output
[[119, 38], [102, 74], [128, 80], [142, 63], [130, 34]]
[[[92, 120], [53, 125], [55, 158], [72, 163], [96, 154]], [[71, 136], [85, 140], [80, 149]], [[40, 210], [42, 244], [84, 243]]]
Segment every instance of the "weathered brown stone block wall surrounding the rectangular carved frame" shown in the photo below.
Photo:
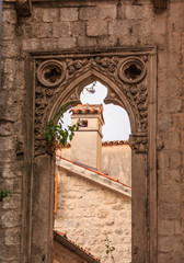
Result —
[[[27, 262], [30, 253], [26, 222], [31, 217], [25, 204], [32, 161], [25, 152], [31, 147], [26, 130], [33, 128], [33, 115], [31, 111], [26, 115], [26, 98], [33, 91], [26, 88], [33, 76], [25, 62], [28, 54], [142, 46], [157, 46], [158, 53], [158, 184], [150, 186], [158, 187], [158, 213], [153, 213], [158, 232], [152, 230], [158, 252], [152, 254], [158, 263], [183, 263], [183, 0], [170, 0], [159, 13], [151, 0], [34, 1], [32, 15], [23, 18], [18, 16], [13, 0], [3, 1], [0, 185], [13, 197], [0, 204], [2, 263]], [[37, 253], [42, 259], [42, 251]]]

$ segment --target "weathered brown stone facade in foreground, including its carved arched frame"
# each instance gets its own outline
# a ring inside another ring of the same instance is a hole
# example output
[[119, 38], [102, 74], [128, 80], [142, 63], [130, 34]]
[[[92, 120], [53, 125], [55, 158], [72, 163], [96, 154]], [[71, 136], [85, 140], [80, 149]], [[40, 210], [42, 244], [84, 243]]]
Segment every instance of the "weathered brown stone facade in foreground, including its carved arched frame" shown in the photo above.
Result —
[[55, 157], [44, 130], [97, 80], [131, 125], [131, 262], [183, 263], [183, 0], [1, 5], [0, 187], [12, 198], [0, 203], [0, 262], [53, 262]]

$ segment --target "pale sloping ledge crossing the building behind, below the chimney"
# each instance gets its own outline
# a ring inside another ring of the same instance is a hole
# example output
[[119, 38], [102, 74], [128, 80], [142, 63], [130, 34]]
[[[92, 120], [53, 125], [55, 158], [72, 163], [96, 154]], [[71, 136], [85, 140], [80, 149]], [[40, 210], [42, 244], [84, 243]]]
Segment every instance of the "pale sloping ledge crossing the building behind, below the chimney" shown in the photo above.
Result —
[[105, 178], [105, 176], [100, 175], [95, 172], [89, 171], [85, 168], [82, 168], [80, 165], [76, 165], [76, 164], [73, 164], [69, 161], [60, 159], [59, 157], [56, 158], [56, 165], [65, 169], [66, 171], [72, 172], [78, 176], [90, 180], [95, 184], [99, 184], [103, 187], [115, 191], [116, 193], [119, 193], [122, 195], [125, 195], [125, 196], [131, 198], [131, 188], [123, 185], [119, 182], [115, 182], [115, 181], [113, 181], [108, 178]]

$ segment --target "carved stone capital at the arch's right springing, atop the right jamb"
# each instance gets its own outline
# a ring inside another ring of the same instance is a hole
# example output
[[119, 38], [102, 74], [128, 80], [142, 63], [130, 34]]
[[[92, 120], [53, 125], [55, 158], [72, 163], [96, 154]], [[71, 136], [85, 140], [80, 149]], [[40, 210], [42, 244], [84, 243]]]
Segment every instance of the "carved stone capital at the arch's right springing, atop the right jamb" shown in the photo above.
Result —
[[147, 153], [148, 136], [145, 133], [136, 133], [129, 136], [129, 146], [136, 153]]

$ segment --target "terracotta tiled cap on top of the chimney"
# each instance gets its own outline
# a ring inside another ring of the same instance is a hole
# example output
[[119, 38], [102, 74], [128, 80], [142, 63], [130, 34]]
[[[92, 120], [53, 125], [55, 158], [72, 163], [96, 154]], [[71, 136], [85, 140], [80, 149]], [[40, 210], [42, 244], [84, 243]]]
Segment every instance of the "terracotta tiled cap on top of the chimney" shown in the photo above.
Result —
[[78, 104], [70, 110], [72, 114], [99, 114], [103, 112], [102, 104]]

